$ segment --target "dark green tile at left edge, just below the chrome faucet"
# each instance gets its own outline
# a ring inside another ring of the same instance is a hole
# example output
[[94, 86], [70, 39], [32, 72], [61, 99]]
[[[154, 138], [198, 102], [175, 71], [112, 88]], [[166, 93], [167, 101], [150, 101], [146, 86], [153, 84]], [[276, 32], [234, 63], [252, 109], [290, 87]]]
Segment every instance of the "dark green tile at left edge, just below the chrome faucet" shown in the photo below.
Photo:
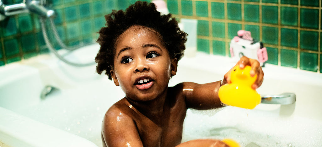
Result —
[[3, 36], [11, 36], [17, 34], [17, 25], [15, 17], [9, 17], [0, 22]]

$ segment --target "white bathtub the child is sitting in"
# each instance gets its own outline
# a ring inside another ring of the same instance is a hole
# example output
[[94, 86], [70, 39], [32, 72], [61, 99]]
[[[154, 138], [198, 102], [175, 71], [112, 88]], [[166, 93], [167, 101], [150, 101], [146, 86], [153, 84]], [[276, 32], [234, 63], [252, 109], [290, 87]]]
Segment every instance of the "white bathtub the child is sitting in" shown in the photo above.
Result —
[[[68, 58], [92, 61], [98, 48], [89, 45]], [[218, 81], [234, 64], [229, 58], [203, 53], [184, 57], [169, 85]], [[322, 146], [322, 74], [269, 64], [263, 70], [258, 93], [292, 92], [295, 104], [188, 110], [183, 141], [232, 138], [247, 147]], [[95, 65], [75, 68], [52, 55], [0, 67], [0, 146], [102, 146], [103, 115], [124, 94], [95, 71]], [[57, 89], [40, 99], [47, 85]]]

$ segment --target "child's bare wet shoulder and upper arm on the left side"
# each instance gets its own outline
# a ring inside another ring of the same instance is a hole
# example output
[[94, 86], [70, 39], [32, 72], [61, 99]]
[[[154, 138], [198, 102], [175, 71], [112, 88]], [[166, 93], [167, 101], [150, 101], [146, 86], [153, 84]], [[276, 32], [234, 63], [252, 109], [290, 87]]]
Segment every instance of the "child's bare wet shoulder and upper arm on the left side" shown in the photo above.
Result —
[[[128, 112], [124, 100], [120, 100], [109, 108], [102, 122], [102, 141], [109, 147], [141, 145], [136, 124]], [[121, 139], [122, 138], [122, 139]]]

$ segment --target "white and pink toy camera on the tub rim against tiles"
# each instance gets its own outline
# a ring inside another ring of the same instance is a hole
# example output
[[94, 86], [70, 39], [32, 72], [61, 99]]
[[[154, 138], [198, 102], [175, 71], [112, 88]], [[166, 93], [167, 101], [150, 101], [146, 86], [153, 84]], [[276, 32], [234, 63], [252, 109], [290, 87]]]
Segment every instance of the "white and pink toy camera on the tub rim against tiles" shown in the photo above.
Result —
[[264, 67], [268, 56], [263, 43], [254, 41], [249, 31], [239, 30], [237, 35], [230, 42], [231, 57], [238, 61], [242, 56], [247, 56], [248, 58], [258, 60], [260, 66]]

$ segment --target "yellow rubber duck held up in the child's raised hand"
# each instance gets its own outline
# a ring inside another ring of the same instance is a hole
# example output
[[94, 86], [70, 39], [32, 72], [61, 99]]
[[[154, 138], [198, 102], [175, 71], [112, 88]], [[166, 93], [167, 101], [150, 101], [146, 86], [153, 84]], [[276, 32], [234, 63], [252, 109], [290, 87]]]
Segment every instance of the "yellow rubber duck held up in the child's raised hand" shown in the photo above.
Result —
[[219, 89], [218, 95], [222, 103], [247, 109], [253, 109], [260, 104], [260, 95], [251, 88], [257, 75], [251, 77], [250, 71], [250, 66], [245, 66], [244, 69], [234, 67], [230, 74], [232, 83], [225, 84]]

